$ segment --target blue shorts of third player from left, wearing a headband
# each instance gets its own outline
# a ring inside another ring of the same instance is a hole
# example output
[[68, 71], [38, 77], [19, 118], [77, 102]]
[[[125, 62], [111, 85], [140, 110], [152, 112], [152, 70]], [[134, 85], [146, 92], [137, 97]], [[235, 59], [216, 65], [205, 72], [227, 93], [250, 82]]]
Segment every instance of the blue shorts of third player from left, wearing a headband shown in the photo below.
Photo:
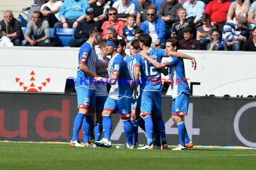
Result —
[[118, 117], [130, 117], [131, 116], [131, 100], [132, 98], [120, 98], [119, 100], [108, 97], [104, 110], [110, 110], [114, 113], [118, 111]]

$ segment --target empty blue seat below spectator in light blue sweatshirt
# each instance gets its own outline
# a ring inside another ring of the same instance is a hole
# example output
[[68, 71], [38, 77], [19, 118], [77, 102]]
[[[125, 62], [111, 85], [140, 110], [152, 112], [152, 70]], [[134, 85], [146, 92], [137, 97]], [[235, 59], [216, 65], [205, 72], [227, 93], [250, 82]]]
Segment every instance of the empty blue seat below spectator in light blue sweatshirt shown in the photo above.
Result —
[[55, 42], [61, 43], [63, 47], [68, 47], [68, 43], [74, 37], [75, 28], [57, 28], [55, 32]]

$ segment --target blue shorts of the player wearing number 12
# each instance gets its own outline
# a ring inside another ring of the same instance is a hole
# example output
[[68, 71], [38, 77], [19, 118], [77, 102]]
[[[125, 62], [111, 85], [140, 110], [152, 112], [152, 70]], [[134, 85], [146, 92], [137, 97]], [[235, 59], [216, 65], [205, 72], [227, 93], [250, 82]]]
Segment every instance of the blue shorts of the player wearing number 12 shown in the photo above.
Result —
[[162, 92], [161, 91], [143, 91], [141, 95], [141, 115], [151, 115], [154, 112], [155, 117], [162, 117]]

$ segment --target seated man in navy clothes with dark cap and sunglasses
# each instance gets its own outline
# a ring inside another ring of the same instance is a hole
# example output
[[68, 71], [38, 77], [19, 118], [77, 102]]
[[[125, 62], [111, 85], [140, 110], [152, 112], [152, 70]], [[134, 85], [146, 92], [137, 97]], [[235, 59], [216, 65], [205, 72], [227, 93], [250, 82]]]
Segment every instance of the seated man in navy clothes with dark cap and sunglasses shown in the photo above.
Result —
[[74, 32], [75, 39], [70, 40], [69, 47], [80, 47], [88, 40], [91, 28], [100, 27], [101, 23], [99, 21], [94, 21], [93, 17], [93, 8], [87, 8], [86, 19], [78, 23]]

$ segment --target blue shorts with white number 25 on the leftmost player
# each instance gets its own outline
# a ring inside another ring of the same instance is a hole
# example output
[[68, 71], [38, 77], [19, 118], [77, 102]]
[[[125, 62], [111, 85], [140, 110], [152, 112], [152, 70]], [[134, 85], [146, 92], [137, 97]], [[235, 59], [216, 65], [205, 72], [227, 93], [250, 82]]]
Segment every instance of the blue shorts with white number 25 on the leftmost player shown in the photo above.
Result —
[[96, 90], [87, 89], [86, 87], [75, 88], [77, 93], [77, 109], [94, 109]]

